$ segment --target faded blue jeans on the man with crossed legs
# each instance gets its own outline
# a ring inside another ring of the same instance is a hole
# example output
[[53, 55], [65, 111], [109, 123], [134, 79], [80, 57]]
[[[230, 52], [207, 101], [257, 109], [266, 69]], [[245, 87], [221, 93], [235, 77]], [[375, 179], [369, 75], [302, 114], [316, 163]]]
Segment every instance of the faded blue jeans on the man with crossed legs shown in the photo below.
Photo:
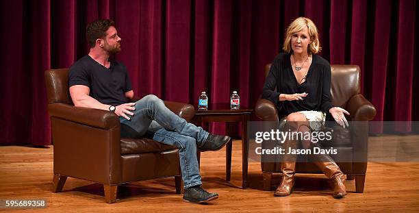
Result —
[[182, 179], [185, 188], [201, 185], [196, 147], [203, 145], [208, 132], [186, 122], [170, 111], [155, 95], [147, 95], [136, 102], [131, 121], [120, 117], [123, 138], [145, 136], [179, 148]]

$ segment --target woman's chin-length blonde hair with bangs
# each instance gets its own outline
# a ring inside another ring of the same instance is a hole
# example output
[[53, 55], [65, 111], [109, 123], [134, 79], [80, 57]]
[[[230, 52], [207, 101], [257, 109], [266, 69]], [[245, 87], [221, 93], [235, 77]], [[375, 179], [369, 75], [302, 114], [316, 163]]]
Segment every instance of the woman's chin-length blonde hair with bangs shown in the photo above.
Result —
[[320, 41], [318, 40], [318, 32], [317, 27], [314, 25], [313, 21], [309, 18], [305, 17], [299, 17], [296, 18], [290, 26], [288, 26], [287, 32], [285, 34], [285, 40], [283, 41], [283, 51], [286, 53], [292, 52], [291, 47], [291, 37], [292, 34], [295, 34], [296, 32], [300, 32], [304, 29], [304, 27], [308, 27], [310, 40], [312, 41], [307, 48], [307, 51], [309, 53], [318, 53], [322, 50], [322, 47], [320, 47]]

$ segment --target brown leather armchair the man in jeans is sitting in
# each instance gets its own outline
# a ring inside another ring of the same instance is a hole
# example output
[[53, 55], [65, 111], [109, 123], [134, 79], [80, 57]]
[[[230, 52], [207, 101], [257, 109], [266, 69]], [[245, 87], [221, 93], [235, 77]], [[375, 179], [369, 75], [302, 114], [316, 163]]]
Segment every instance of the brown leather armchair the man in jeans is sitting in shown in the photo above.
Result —
[[[114, 203], [119, 184], [175, 176], [182, 192], [177, 147], [147, 138], [120, 138], [118, 116], [105, 110], [75, 107], [68, 91], [68, 68], [45, 72], [48, 111], [54, 145], [54, 192], [61, 192], [67, 177], [103, 184], [105, 201]], [[189, 104], [164, 102], [185, 118], [194, 116]]]

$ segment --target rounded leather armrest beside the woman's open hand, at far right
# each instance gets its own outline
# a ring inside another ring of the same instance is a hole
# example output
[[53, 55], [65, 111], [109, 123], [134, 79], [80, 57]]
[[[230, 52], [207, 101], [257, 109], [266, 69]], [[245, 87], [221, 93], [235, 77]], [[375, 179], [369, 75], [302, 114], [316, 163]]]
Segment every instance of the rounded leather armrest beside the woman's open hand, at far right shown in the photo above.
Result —
[[351, 114], [352, 121], [371, 121], [377, 111], [363, 95], [354, 95], [348, 101], [347, 110]]

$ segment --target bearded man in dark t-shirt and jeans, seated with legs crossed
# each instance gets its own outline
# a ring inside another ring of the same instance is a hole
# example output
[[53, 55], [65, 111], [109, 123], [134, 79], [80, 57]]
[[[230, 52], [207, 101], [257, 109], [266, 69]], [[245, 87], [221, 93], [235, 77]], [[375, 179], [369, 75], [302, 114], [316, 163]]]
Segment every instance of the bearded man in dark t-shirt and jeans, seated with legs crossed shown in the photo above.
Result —
[[183, 201], [207, 202], [218, 198], [201, 188], [196, 149], [216, 151], [229, 136], [214, 136], [171, 112], [164, 102], [147, 95], [136, 103], [127, 69], [110, 59], [120, 51], [120, 40], [112, 20], [98, 20], [86, 29], [90, 52], [70, 68], [68, 86], [75, 106], [109, 110], [120, 116], [121, 137], [146, 136], [179, 148], [185, 193]]

